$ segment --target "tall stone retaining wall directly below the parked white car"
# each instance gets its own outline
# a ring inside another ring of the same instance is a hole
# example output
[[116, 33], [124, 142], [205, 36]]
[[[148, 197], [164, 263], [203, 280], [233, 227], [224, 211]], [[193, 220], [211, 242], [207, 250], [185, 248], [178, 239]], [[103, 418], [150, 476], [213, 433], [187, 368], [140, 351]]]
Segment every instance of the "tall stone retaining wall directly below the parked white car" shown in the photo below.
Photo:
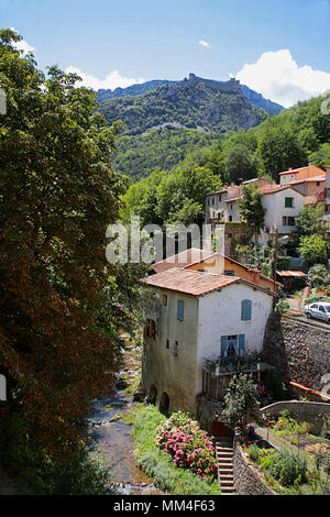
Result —
[[283, 378], [316, 391], [324, 388], [322, 377], [330, 373], [330, 328], [272, 315], [263, 352]]

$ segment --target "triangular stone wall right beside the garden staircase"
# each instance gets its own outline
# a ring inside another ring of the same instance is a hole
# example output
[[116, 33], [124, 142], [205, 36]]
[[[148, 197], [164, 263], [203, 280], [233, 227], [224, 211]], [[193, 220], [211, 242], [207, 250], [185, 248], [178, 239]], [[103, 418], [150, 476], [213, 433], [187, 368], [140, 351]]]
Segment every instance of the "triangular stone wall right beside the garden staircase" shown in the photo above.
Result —
[[265, 485], [263, 477], [237, 441], [233, 453], [233, 479], [238, 495], [277, 495]]

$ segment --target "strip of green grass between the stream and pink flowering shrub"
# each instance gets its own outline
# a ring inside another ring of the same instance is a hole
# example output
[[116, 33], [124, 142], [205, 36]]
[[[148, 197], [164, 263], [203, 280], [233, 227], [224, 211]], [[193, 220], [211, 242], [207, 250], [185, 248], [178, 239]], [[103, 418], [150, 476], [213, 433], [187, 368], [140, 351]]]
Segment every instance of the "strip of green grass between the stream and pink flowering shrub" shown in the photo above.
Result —
[[208, 484], [191, 472], [177, 468], [169, 454], [155, 446], [156, 429], [165, 420], [166, 417], [155, 406], [143, 404], [124, 417], [123, 421], [133, 426], [139, 468], [163, 492], [173, 495], [220, 495], [218, 481]]

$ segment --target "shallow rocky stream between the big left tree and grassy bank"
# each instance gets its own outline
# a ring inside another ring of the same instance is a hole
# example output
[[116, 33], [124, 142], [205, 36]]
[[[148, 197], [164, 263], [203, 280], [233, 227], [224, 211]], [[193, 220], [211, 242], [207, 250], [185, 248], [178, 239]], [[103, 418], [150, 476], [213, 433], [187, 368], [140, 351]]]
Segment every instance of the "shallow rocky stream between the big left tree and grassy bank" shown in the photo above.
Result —
[[133, 407], [124, 392], [92, 402], [88, 415], [89, 436], [94, 439], [92, 450], [98, 450], [112, 469], [112, 482], [116, 491], [124, 495], [160, 495], [160, 492], [146, 477], [134, 461], [134, 442], [131, 426], [124, 424], [119, 413]]

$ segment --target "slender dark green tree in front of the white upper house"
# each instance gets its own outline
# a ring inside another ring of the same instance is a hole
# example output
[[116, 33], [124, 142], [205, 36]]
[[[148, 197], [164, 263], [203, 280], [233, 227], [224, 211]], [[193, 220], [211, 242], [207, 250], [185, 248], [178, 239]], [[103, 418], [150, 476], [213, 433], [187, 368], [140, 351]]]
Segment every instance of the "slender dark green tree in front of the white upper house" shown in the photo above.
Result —
[[257, 185], [248, 184], [242, 188], [242, 196], [238, 199], [241, 219], [254, 228], [255, 244], [257, 235], [264, 226], [266, 210], [263, 207], [262, 194]]

